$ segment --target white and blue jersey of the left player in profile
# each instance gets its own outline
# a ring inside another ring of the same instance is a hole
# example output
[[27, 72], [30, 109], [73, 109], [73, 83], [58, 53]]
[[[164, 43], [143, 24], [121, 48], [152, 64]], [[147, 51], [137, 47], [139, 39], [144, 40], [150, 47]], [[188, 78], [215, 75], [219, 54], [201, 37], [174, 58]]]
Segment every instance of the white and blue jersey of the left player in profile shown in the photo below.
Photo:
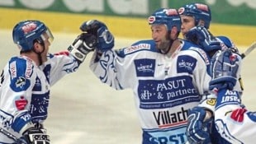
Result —
[[[64, 75], [75, 72], [79, 63], [71, 54], [49, 54], [37, 66], [26, 56], [13, 57], [3, 68], [0, 83], [0, 127], [13, 136], [47, 118], [50, 86]], [[0, 132], [0, 143], [14, 141]]]

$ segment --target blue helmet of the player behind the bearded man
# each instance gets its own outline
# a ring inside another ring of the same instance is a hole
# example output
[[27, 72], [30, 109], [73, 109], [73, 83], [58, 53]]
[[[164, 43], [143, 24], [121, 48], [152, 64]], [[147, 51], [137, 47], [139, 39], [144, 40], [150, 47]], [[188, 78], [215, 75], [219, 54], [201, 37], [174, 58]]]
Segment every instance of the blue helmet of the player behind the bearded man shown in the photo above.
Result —
[[202, 20], [205, 22], [204, 27], [209, 29], [211, 22], [211, 9], [209, 6], [203, 3], [192, 3], [187, 4], [178, 9], [180, 15], [193, 16], [195, 18], [196, 26], [199, 21]]

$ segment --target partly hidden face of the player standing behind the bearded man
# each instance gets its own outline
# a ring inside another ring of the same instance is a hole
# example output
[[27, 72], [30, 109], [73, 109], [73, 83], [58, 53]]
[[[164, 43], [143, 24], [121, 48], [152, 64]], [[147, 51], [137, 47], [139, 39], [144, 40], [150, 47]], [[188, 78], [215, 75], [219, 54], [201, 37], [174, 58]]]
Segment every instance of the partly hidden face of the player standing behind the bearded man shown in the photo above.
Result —
[[193, 16], [181, 15], [182, 18], [182, 29], [183, 38], [185, 38], [187, 31], [192, 29], [195, 26], [195, 19]]

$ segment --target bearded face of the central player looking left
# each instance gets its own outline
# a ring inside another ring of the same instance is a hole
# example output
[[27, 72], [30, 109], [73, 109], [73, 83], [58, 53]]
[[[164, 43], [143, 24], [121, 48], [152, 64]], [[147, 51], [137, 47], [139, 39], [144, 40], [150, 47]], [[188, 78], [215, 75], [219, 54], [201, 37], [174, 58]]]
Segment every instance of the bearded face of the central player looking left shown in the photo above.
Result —
[[157, 49], [161, 49], [165, 51], [168, 49], [169, 40], [168, 38], [168, 30], [167, 26], [165, 25], [154, 25], [151, 26], [151, 32], [152, 32], [152, 38], [154, 39], [154, 42], [156, 44]]

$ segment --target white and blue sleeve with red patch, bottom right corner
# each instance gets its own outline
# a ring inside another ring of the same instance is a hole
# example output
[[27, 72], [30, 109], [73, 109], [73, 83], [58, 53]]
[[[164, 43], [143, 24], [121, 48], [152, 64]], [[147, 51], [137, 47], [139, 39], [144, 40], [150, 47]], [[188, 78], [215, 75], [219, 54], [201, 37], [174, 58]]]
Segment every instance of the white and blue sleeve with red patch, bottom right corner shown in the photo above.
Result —
[[254, 141], [256, 113], [241, 105], [239, 91], [219, 91], [215, 123], [221, 137], [231, 143], [251, 143]]

